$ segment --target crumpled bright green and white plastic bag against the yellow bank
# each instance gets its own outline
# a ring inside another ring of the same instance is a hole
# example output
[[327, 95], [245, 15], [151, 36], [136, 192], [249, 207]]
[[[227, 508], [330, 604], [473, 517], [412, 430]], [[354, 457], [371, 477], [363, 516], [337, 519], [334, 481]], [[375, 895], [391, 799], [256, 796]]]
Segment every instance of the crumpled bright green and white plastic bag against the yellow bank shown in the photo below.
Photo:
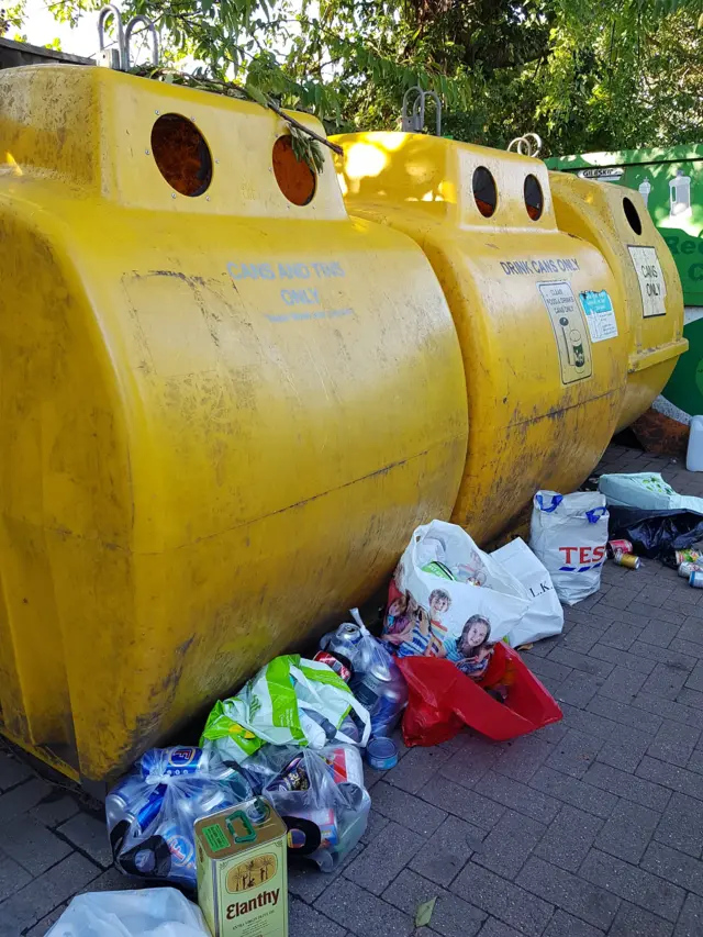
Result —
[[[352, 711], [364, 726], [358, 741], [341, 729]], [[370, 726], [368, 711], [331, 667], [290, 654], [275, 657], [236, 696], [215, 703], [200, 744], [241, 765], [267, 741], [300, 748], [332, 741], [365, 746]]]

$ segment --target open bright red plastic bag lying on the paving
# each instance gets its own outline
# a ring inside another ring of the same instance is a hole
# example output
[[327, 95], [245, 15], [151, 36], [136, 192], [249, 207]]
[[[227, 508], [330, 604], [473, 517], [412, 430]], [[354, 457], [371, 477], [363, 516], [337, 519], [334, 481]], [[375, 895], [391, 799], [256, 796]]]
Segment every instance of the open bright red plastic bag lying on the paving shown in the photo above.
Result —
[[[546, 687], [503, 642], [495, 645], [480, 682], [442, 658], [404, 657], [398, 666], [409, 689], [403, 716], [408, 746], [438, 745], [454, 738], [465, 725], [495, 741], [505, 741], [562, 717]], [[505, 703], [486, 692], [486, 688], [496, 685], [507, 688]]]

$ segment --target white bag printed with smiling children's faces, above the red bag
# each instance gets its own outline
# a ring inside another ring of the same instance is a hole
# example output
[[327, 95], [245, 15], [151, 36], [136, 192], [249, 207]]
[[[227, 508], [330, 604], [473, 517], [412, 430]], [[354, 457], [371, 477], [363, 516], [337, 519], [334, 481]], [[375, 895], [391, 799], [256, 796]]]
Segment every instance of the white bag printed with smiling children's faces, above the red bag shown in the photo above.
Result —
[[414, 531], [398, 564], [381, 640], [398, 657], [444, 657], [479, 679], [528, 605], [527, 590], [466, 531], [433, 521]]

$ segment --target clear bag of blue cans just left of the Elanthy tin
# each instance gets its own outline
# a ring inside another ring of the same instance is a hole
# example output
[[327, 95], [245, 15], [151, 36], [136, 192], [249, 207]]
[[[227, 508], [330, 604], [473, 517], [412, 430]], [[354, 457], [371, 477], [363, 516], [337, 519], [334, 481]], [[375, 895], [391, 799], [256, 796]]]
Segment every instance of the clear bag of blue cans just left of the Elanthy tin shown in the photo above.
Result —
[[112, 855], [127, 875], [196, 888], [193, 824], [253, 796], [214, 750], [153, 748], [108, 794]]

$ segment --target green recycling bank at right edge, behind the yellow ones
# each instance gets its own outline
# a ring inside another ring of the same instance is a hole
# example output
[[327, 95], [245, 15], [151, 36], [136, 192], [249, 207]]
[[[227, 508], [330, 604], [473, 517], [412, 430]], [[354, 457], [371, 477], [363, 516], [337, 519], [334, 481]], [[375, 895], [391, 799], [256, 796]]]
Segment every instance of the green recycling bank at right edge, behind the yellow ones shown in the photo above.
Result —
[[681, 277], [689, 350], [663, 397], [690, 415], [703, 413], [703, 144], [550, 157], [550, 169], [636, 189]]

